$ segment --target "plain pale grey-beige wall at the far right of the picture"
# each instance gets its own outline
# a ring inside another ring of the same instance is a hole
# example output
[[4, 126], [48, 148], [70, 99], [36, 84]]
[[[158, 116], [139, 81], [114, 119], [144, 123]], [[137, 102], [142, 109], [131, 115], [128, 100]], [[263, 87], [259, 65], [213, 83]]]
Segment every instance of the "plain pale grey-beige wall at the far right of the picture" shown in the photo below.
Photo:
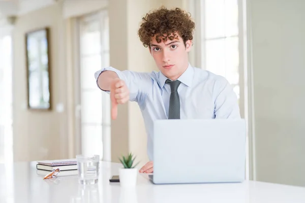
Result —
[[256, 179], [305, 186], [305, 1], [249, 2]]

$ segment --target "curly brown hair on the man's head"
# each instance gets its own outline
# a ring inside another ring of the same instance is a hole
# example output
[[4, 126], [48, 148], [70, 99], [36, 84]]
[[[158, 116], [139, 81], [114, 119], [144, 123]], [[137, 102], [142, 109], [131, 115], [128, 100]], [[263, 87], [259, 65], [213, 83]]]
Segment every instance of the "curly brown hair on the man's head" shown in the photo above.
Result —
[[184, 44], [186, 41], [193, 39], [193, 30], [195, 23], [191, 19], [191, 14], [182, 11], [179, 8], [172, 10], [161, 7], [151, 13], [147, 13], [142, 18], [141, 26], [138, 30], [138, 35], [144, 47], [150, 47], [151, 38], [156, 35], [156, 41], [160, 43], [169, 40], [177, 39], [178, 33]]

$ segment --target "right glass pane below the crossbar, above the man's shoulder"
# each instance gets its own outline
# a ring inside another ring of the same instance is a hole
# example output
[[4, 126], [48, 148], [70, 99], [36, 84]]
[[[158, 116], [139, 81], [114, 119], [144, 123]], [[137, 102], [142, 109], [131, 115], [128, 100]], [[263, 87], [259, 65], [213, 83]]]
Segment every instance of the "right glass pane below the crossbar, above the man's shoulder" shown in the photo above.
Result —
[[225, 67], [226, 67], [226, 79], [230, 84], [239, 83], [239, 54], [238, 54], [238, 38], [226, 38], [225, 40]]

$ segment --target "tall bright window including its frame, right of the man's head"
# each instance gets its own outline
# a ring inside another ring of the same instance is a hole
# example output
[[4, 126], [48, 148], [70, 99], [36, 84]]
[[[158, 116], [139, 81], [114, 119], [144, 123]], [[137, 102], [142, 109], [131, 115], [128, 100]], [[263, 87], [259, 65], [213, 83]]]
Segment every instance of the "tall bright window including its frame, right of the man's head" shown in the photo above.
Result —
[[[248, 121], [245, 5], [246, 0], [190, 0], [190, 12], [196, 23], [195, 65], [229, 81], [237, 95], [241, 117]], [[247, 179], [248, 134], [247, 131]]]

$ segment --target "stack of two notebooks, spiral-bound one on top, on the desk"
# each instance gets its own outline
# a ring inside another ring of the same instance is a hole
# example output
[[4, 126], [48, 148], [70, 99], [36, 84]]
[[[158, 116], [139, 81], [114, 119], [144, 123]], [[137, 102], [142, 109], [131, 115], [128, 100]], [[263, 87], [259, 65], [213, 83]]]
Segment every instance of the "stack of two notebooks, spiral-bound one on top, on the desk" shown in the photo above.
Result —
[[60, 171], [77, 170], [77, 162], [76, 159], [37, 161], [36, 168], [45, 171], [53, 171], [57, 168]]

